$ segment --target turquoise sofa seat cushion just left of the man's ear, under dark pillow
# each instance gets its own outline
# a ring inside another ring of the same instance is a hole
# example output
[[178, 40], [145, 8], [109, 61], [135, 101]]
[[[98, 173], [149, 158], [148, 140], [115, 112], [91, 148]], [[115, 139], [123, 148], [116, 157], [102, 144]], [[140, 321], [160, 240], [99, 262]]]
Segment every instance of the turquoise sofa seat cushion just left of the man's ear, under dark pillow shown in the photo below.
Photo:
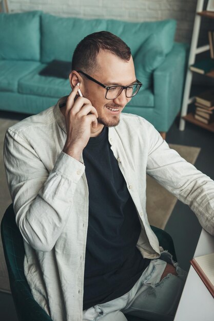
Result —
[[69, 79], [41, 76], [38, 74], [46, 65], [41, 64], [18, 82], [18, 92], [22, 94], [62, 97], [71, 92]]

